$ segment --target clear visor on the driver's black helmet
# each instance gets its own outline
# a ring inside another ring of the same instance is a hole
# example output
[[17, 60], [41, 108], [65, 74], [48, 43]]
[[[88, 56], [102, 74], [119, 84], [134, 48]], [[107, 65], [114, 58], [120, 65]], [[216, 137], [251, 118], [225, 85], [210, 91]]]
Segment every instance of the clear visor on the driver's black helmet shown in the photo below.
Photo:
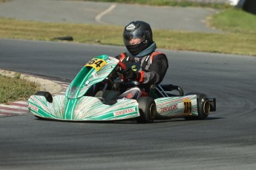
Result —
[[123, 41], [125, 46], [140, 44], [145, 41], [145, 32], [125, 32], [123, 33]]

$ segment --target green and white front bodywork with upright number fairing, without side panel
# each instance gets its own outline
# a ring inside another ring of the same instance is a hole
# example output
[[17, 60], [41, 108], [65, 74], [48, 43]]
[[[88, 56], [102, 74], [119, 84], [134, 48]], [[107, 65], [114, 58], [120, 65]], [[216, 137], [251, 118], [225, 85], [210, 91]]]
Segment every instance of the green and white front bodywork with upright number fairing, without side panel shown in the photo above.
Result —
[[48, 102], [44, 96], [32, 95], [28, 99], [29, 111], [40, 118], [57, 120], [121, 120], [138, 117], [140, 113], [136, 100], [120, 100], [108, 105], [99, 98], [84, 96], [93, 84], [107, 78], [118, 62], [108, 55], [93, 58], [82, 67], [65, 95], [53, 96], [52, 102]]

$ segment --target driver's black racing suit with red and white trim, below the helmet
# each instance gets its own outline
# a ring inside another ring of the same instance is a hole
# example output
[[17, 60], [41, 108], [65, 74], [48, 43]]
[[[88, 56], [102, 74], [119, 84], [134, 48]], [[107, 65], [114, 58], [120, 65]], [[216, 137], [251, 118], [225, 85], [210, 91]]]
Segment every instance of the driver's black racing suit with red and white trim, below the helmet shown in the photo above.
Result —
[[152, 84], [160, 84], [168, 69], [168, 59], [162, 52], [151, 52], [143, 57], [128, 57], [126, 53], [116, 56], [126, 67], [136, 72], [135, 80], [140, 82], [137, 87], [126, 89], [119, 95], [120, 98], [138, 99], [142, 90], [147, 92]]

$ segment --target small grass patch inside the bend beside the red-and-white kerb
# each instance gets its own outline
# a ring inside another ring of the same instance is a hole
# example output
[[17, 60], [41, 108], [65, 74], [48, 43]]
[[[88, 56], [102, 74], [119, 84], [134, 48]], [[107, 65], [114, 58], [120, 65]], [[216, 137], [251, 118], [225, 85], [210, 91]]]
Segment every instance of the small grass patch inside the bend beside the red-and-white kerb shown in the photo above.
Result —
[[37, 84], [21, 79], [20, 74], [13, 78], [0, 75], [0, 86], [0, 103], [27, 100], [30, 95], [39, 90]]

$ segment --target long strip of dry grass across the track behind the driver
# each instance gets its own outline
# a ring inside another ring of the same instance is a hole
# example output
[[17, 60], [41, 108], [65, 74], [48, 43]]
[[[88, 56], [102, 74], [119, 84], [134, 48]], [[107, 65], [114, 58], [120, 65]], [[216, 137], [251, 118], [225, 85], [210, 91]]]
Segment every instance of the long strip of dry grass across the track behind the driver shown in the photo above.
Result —
[[[256, 19], [256, 17], [240, 10], [224, 10], [211, 18], [212, 25], [217, 27], [222, 25], [222, 22], [225, 24], [225, 21], [220, 18], [223, 18], [223, 16], [230, 18], [227, 13], [240, 13], [240, 15], [245, 16], [240, 18], [243, 24], [238, 24], [235, 28], [232, 27], [232, 24], [228, 24], [229, 27], [224, 25], [221, 28], [229, 32], [222, 34], [153, 30], [154, 41], [157, 42], [158, 48], [168, 50], [192, 50], [256, 56], [255, 27], [249, 19], [248, 24], [244, 23], [245, 18], [252, 17], [252, 19]], [[237, 23], [240, 22], [237, 21]], [[243, 26], [244, 24], [247, 25], [247, 28]], [[74, 41], [79, 43], [123, 45], [122, 30], [123, 27], [110, 25], [56, 24], [0, 18], [1, 38], [53, 41], [55, 37], [70, 35], [73, 36]]]

